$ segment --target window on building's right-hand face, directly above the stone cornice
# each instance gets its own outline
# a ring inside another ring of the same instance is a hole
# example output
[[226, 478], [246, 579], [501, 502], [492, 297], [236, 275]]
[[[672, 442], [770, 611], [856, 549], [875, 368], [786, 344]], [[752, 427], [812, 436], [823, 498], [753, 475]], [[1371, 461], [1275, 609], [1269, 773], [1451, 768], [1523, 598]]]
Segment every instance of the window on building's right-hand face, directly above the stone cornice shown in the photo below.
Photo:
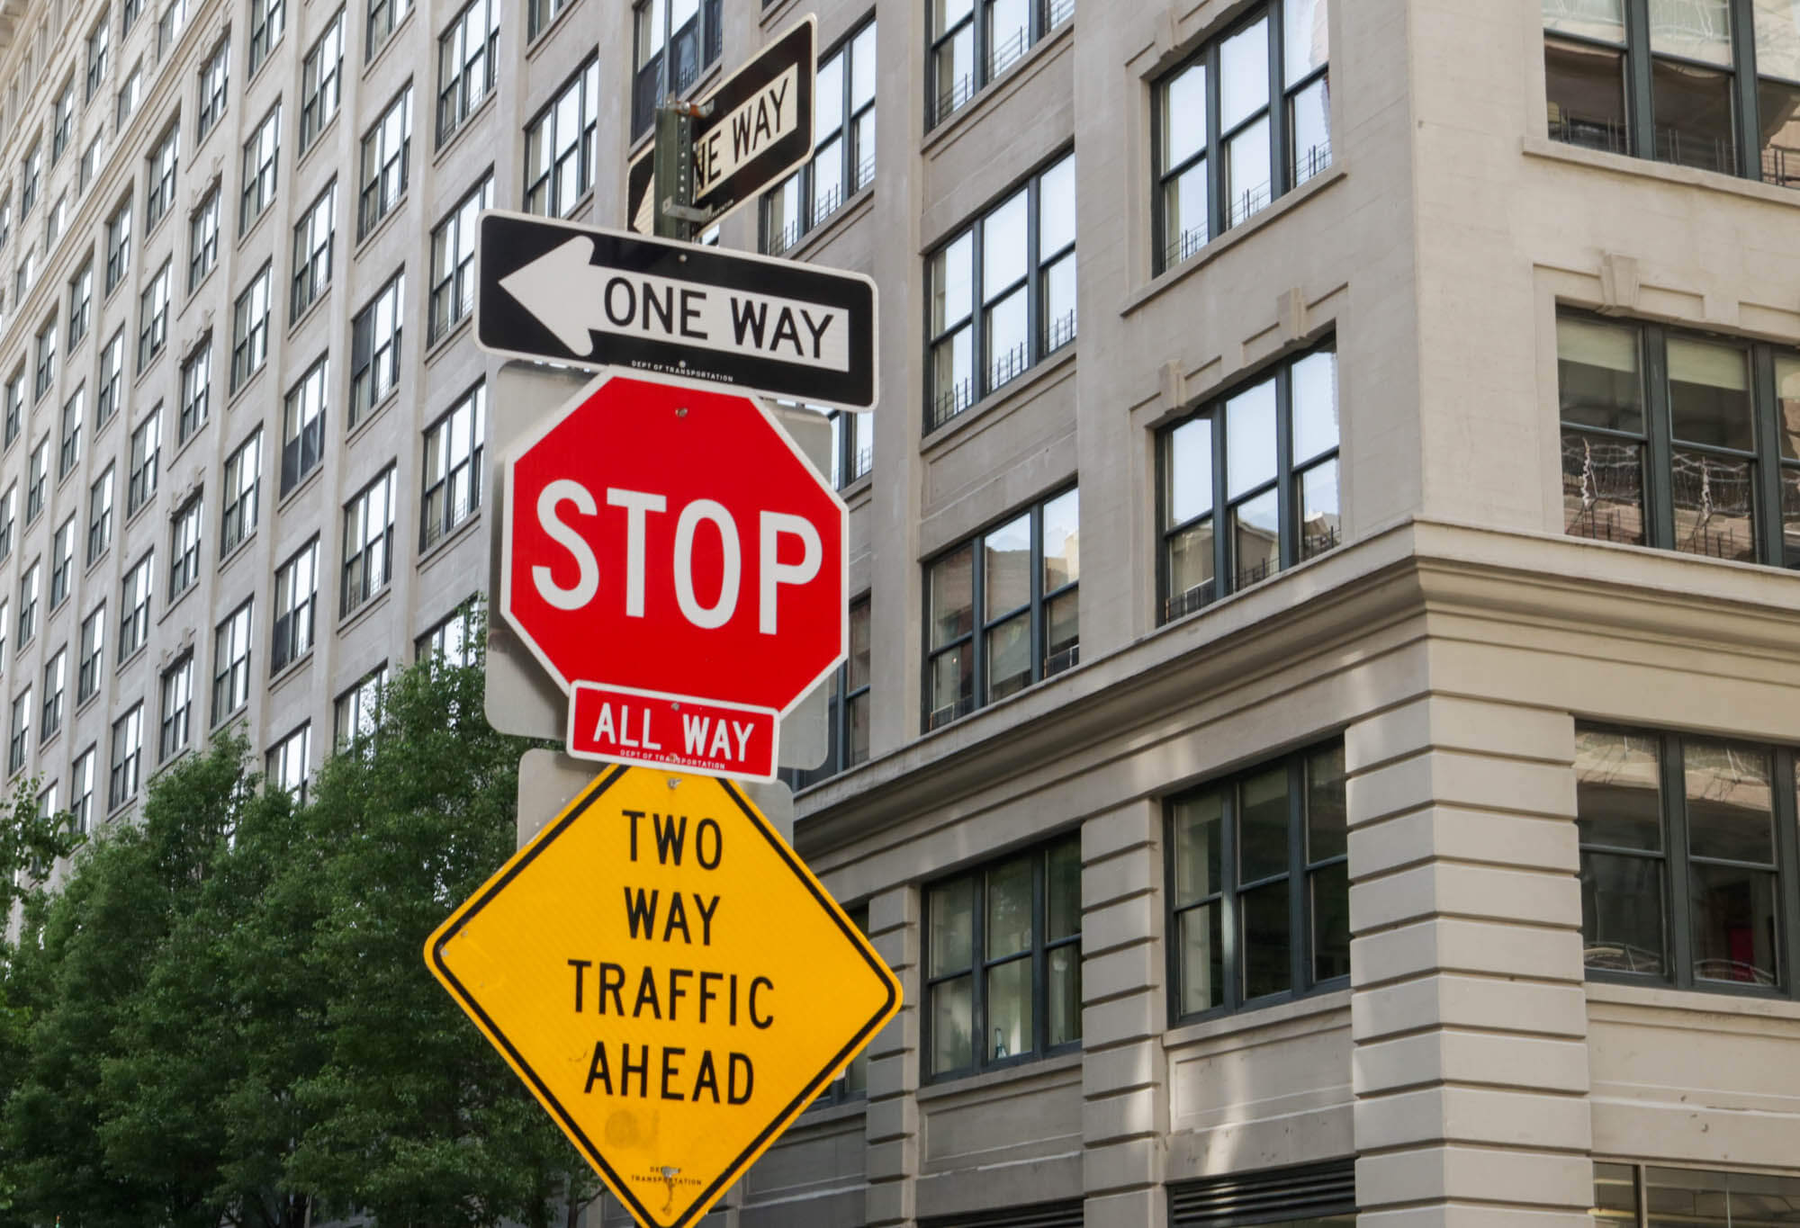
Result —
[[1800, 567], [1800, 351], [1562, 315], [1557, 382], [1566, 533]]

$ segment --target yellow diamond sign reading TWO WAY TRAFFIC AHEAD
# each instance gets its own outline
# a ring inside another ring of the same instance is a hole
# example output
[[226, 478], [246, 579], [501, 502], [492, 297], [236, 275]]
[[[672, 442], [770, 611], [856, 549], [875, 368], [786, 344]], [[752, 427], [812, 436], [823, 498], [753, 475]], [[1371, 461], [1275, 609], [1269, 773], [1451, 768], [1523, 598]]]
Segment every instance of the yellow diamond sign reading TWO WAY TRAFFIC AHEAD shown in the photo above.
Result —
[[644, 1224], [686, 1228], [900, 1008], [731, 781], [612, 767], [425, 944]]

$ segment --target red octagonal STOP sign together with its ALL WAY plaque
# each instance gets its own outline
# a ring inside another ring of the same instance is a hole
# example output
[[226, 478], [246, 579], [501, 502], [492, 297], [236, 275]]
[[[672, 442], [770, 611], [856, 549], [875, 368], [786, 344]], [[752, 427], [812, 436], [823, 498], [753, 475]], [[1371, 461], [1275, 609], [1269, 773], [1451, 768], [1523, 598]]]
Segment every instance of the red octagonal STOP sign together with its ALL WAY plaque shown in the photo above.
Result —
[[754, 400], [608, 375], [504, 461], [500, 612], [569, 749], [767, 780], [846, 655], [848, 511]]

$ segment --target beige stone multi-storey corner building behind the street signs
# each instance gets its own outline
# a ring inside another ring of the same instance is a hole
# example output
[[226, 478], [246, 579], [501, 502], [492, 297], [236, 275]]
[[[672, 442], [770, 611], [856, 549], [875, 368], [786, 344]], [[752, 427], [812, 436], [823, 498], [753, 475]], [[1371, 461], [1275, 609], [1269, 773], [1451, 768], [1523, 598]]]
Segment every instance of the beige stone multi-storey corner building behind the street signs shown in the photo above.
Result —
[[470, 218], [817, 11], [718, 239], [882, 292], [796, 844], [907, 1005], [715, 1221], [1800, 1219], [1800, 4], [668, 2], [0, 2], [9, 776], [455, 650]]

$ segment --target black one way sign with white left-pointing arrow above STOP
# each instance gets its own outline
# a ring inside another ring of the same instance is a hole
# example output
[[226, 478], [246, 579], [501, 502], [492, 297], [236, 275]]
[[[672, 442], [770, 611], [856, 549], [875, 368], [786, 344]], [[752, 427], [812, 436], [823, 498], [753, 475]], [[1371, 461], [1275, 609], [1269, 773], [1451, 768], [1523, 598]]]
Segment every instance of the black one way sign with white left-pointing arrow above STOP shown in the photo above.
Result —
[[475, 340], [842, 409], [875, 405], [875, 283], [529, 214], [481, 214]]

